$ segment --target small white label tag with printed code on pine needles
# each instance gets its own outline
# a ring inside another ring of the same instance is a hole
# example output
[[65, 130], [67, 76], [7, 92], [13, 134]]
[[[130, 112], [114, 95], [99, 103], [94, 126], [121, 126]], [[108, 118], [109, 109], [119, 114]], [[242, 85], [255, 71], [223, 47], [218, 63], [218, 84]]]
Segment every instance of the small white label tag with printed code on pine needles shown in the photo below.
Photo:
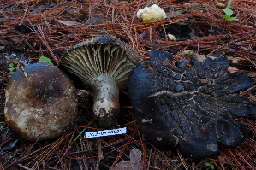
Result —
[[96, 131], [96, 132], [86, 132], [84, 138], [96, 138], [105, 137], [111, 135], [119, 135], [126, 133], [126, 127], [112, 130]]

